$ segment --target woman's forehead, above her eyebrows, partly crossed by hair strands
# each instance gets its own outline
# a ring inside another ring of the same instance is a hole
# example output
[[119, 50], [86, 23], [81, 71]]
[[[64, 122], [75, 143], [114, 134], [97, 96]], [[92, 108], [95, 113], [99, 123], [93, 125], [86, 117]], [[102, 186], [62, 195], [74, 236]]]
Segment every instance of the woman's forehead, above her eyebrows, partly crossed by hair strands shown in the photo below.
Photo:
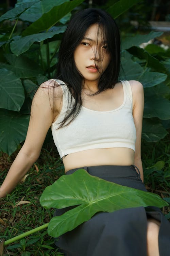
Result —
[[84, 38], [92, 39], [93, 41], [103, 42], [106, 41], [104, 29], [98, 24], [92, 24], [84, 35]]

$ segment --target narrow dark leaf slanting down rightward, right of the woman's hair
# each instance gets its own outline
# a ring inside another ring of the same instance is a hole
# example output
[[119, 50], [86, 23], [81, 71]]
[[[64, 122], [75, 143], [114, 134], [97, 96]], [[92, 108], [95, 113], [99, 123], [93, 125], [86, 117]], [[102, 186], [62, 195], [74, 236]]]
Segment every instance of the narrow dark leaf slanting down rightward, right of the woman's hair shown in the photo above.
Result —
[[153, 68], [155, 71], [166, 73], [165, 66], [152, 55], [150, 55], [145, 49], [137, 46], [133, 46], [128, 50], [129, 53], [137, 56], [139, 59], [145, 59], [147, 61], [147, 66]]

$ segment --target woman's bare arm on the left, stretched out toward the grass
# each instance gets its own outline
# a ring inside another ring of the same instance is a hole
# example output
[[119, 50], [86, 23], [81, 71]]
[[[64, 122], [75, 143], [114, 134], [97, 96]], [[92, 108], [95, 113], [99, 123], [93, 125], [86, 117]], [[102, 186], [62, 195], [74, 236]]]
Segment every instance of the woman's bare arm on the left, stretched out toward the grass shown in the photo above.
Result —
[[48, 83], [41, 85], [33, 98], [27, 137], [0, 187], [0, 197], [9, 194], [38, 159], [54, 116], [58, 114], [56, 108], [52, 109], [54, 90], [48, 89]]

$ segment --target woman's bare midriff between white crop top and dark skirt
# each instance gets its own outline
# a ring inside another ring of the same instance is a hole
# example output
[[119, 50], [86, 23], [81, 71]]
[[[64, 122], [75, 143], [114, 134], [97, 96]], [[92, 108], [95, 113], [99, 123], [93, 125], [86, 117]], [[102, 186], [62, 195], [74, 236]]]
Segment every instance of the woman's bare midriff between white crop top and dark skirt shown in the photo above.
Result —
[[85, 166], [134, 165], [135, 152], [131, 148], [97, 148], [71, 153], [63, 157], [65, 172]]

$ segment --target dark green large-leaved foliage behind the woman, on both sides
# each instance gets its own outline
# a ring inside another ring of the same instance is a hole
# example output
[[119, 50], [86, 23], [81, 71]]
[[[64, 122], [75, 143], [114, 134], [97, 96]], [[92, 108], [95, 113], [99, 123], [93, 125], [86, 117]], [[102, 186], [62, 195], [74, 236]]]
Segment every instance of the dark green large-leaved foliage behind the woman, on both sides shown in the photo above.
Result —
[[[0, 140], [0, 150], [3, 152], [12, 154], [18, 144], [24, 141], [28, 126], [26, 114], [30, 112], [28, 106], [38, 85], [53, 77], [58, 47], [70, 12], [82, 2], [20, 0], [14, 9], [0, 17], [0, 137], [3, 138]], [[112, 4], [106, 4], [105, 9], [117, 18], [137, 3], [138, 0], [113, 1]], [[87, 7], [83, 4], [81, 8]], [[9, 26], [11, 24], [12, 27]], [[165, 51], [154, 44], [148, 45], [146, 49], [139, 47], [162, 32], [121, 32], [124, 72], [121, 72], [120, 80], [138, 80], [143, 84], [145, 110], [142, 136], [148, 142], [155, 142], [164, 138], [169, 128], [161, 120], [170, 120], [170, 50]], [[17, 127], [10, 125], [13, 111], [18, 112], [18, 115], [15, 113], [16, 118], [22, 118], [26, 126], [22, 128], [19, 119]], [[10, 140], [7, 139], [7, 130], [10, 130]]]

